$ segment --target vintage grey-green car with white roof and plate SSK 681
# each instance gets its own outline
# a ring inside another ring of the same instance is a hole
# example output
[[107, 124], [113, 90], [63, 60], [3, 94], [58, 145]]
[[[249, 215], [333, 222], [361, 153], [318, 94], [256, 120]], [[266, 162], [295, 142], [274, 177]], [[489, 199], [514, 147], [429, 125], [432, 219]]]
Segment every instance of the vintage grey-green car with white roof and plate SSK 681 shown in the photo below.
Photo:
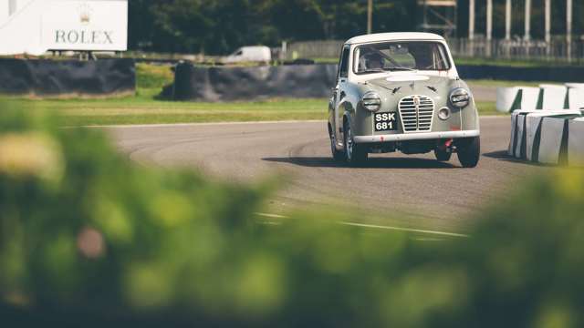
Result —
[[442, 36], [384, 33], [342, 47], [328, 104], [334, 159], [362, 164], [370, 153], [433, 151], [465, 168], [480, 157], [479, 118]]

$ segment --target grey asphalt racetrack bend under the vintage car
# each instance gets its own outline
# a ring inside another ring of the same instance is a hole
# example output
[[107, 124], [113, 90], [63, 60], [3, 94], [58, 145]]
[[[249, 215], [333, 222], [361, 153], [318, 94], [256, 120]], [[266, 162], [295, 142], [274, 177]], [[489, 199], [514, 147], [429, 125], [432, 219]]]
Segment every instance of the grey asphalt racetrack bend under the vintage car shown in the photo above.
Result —
[[123, 152], [144, 164], [198, 169], [214, 179], [281, 180], [270, 213], [310, 206], [356, 210], [360, 221], [454, 230], [550, 168], [506, 156], [510, 119], [481, 118], [482, 159], [371, 155], [364, 168], [333, 161], [326, 122], [227, 123], [109, 128]]

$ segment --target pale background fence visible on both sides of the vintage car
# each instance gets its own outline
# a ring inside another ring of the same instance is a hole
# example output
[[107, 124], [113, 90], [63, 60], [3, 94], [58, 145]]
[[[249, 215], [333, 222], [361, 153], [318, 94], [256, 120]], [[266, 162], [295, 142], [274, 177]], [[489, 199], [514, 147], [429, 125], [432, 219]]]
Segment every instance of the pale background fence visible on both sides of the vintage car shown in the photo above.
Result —
[[[568, 44], [565, 39], [543, 40], [491, 40], [451, 38], [448, 43], [455, 57], [480, 57], [500, 59], [529, 59], [554, 62], [584, 63], [584, 39]], [[307, 41], [290, 43], [283, 52], [284, 59], [338, 58], [343, 41]]]

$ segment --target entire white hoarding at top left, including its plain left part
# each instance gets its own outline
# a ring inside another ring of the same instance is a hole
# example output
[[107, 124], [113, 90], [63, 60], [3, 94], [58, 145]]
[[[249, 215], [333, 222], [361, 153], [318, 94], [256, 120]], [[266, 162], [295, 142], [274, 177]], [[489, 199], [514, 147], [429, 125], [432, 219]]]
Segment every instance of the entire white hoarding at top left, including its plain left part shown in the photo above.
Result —
[[0, 55], [127, 48], [128, 0], [0, 0]]

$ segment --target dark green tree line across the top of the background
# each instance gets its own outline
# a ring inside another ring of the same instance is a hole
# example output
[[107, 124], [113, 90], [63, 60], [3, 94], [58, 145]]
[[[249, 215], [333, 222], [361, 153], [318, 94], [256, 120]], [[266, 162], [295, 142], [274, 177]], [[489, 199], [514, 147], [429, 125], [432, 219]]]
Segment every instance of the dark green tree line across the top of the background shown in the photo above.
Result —
[[[130, 0], [130, 48], [225, 55], [238, 46], [347, 39], [366, 33], [367, 0]], [[553, 6], [552, 33], [565, 33], [565, 1]], [[495, 0], [495, 37], [504, 36], [505, 1]], [[533, 1], [532, 32], [543, 36], [543, 0]], [[524, 2], [513, 6], [513, 33], [523, 34]], [[457, 36], [468, 30], [468, 0], [459, 0]], [[574, 32], [584, 33], [584, 1], [574, 2]], [[422, 21], [414, 0], [374, 0], [374, 32], [413, 31]], [[477, 2], [476, 31], [485, 30]]]

